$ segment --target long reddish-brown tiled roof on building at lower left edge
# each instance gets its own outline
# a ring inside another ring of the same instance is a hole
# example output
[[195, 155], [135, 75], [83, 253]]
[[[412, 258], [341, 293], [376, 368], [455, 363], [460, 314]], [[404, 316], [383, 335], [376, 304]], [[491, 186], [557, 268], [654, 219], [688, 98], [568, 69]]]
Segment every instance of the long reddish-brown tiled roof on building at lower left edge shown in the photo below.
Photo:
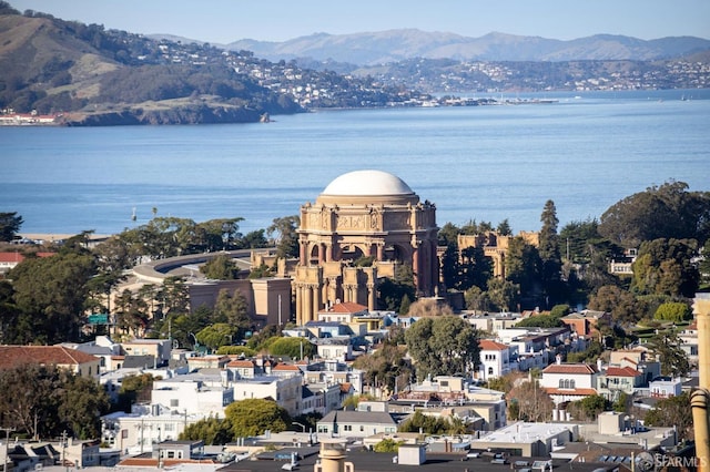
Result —
[[63, 346], [0, 346], [0, 369], [30, 362], [42, 366], [80, 366], [97, 360], [99, 358], [95, 356]]

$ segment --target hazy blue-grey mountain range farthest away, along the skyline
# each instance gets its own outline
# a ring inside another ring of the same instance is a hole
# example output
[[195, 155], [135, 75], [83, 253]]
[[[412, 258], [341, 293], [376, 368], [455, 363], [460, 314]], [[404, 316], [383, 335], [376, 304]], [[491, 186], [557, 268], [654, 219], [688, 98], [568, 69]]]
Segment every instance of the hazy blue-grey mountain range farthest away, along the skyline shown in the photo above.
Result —
[[[175, 37], [170, 38], [176, 40]], [[270, 61], [311, 58], [373, 65], [413, 58], [458, 61], [651, 61], [708, 51], [710, 40], [696, 37], [641, 40], [596, 34], [562, 41], [499, 32], [469, 38], [447, 32], [399, 29], [354, 34], [315, 33], [283, 42], [243, 39], [221, 47], [233, 51], [252, 51], [256, 57]]]

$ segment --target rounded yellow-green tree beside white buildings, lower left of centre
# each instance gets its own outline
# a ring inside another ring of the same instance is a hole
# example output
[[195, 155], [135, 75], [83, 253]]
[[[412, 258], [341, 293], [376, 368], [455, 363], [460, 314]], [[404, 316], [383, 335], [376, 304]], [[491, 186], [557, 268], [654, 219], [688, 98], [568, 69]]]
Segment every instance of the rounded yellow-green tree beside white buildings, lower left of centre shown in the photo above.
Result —
[[291, 424], [286, 410], [273, 400], [246, 399], [230, 403], [224, 415], [232, 425], [234, 438], [264, 434], [264, 431], [281, 432]]

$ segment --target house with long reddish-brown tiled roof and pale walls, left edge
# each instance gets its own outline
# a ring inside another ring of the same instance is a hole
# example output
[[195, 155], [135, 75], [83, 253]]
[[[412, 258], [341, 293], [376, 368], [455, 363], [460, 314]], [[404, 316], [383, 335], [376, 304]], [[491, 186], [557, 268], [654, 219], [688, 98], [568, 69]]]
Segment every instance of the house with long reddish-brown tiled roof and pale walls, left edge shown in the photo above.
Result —
[[64, 346], [0, 346], [0, 369], [26, 363], [57, 366], [97, 379], [101, 369], [100, 358]]

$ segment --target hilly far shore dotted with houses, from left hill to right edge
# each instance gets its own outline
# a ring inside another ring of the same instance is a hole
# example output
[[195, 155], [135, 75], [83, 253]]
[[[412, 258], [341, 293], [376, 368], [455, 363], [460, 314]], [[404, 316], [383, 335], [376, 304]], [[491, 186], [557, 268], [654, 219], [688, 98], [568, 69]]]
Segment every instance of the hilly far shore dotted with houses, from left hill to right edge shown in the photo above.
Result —
[[[646, 60], [629, 57], [633, 53], [605, 60], [503, 60], [507, 53], [500, 52], [486, 59], [434, 54], [357, 64], [348, 63], [344, 52], [343, 58], [272, 62], [243, 49], [155, 40], [36, 11], [22, 14], [7, 2], [0, 2], [0, 18], [7, 24], [0, 32], [4, 124], [33, 112], [65, 125], [258, 122], [317, 109], [490, 103], [452, 95], [710, 86], [710, 47], [700, 39], [659, 40], [649, 51], [660, 48], [677, 55]], [[501, 51], [493, 48], [497, 37], [491, 38], [488, 48]], [[622, 38], [605, 39], [605, 44], [609, 41], [636, 51]], [[599, 44], [596, 38], [589, 42]], [[37, 123], [20, 121], [28, 122]]]

